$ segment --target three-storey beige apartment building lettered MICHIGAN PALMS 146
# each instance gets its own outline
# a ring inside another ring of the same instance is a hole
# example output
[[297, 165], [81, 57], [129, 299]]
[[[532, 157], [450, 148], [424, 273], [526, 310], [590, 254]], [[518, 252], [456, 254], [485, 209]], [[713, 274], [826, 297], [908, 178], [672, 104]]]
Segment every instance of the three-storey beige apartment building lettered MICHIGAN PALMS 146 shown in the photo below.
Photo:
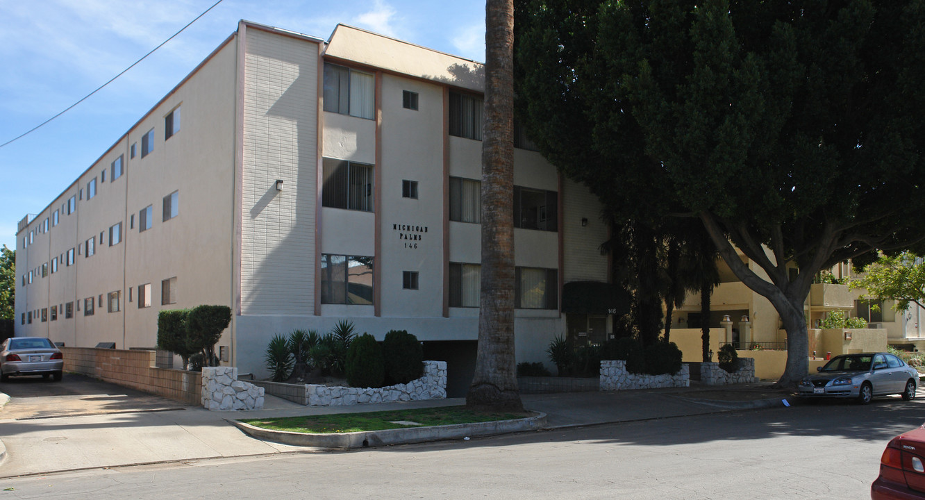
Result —
[[[463, 380], [482, 92], [474, 61], [344, 25], [325, 42], [241, 21], [20, 222], [17, 335], [153, 348], [158, 311], [225, 304], [222, 360], [241, 372], [265, 374], [277, 333], [348, 319], [377, 338], [408, 330]], [[515, 146], [517, 359], [548, 362], [569, 321], [611, 329], [606, 301], [561, 307], [566, 283], [607, 282], [608, 232], [586, 188]]]

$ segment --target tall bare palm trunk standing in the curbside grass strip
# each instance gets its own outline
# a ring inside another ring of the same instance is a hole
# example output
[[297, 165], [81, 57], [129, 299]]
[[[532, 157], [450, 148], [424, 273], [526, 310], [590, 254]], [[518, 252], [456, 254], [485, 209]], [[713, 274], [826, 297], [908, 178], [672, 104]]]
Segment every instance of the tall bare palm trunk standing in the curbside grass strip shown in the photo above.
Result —
[[466, 406], [521, 410], [514, 359], [512, 0], [485, 7], [482, 282], [475, 376]]

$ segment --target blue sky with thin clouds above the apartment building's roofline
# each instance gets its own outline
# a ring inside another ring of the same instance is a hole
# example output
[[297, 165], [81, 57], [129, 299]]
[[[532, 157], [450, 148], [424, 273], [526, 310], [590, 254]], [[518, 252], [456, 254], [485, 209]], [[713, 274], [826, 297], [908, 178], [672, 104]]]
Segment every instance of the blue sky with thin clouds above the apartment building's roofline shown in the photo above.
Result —
[[[0, 144], [74, 104], [216, 0], [0, 2]], [[484, 2], [224, 0], [104, 90], [0, 148], [0, 245], [39, 213], [193, 67], [238, 20], [326, 39], [341, 22], [478, 61]]]

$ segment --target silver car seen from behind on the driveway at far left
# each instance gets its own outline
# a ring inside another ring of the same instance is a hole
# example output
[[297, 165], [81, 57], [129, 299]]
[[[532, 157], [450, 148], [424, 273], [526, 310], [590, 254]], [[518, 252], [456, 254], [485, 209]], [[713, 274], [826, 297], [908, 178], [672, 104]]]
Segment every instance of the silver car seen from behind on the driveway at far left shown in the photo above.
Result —
[[18, 375], [43, 375], [61, 380], [64, 356], [42, 336], [14, 336], [0, 344], [0, 380]]

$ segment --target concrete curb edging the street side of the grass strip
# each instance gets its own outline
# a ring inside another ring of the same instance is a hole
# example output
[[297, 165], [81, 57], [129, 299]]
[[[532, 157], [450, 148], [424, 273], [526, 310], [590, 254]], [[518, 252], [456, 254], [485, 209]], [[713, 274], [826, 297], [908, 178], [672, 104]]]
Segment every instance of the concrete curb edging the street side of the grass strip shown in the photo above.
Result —
[[231, 419], [225, 419], [225, 421], [228, 421], [231, 425], [238, 427], [241, 432], [252, 437], [274, 441], [283, 445], [316, 446], [322, 448], [362, 448], [367, 446], [405, 445], [411, 443], [425, 443], [428, 441], [444, 441], [504, 433], [522, 433], [524, 431], [537, 431], [546, 428], [546, 413], [538, 411], [536, 413], [537, 414], [533, 417], [512, 421], [458, 423], [453, 425], [341, 434], [270, 431], [242, 421]]

